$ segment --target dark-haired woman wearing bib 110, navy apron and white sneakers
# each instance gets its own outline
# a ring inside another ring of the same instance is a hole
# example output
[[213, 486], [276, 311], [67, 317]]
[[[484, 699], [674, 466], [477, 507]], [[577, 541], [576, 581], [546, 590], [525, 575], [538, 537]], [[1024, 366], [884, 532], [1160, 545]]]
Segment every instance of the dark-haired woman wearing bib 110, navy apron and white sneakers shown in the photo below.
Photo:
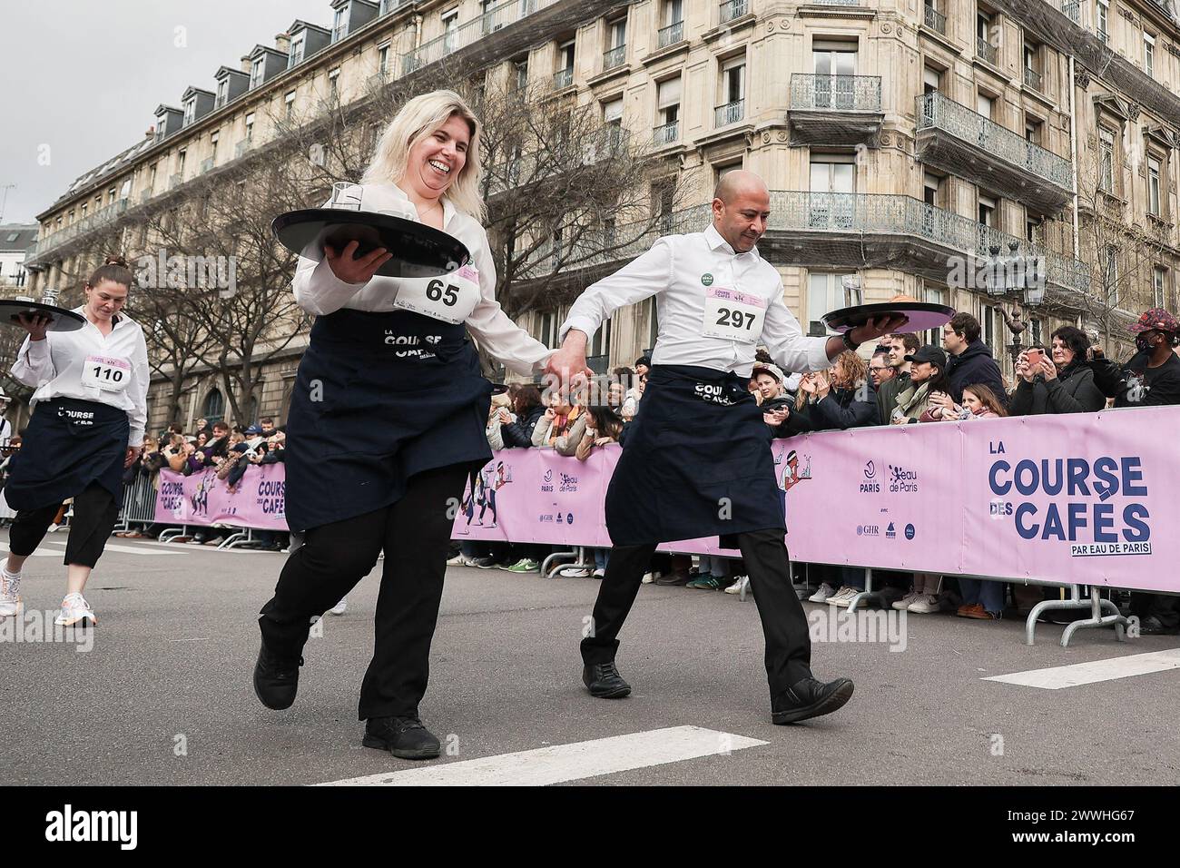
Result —
[[148, 424], [148, 346], [139, 324], [119, 313], [135, 276], [116, 256], [91, 274], [86, 324], [46, 332], [45, 316], [20, 318], [28, 329], [12, 376], [35, 386], [20, 452], [5, 487], [19, 510], [0, 572], [0, 616], [20, 611], [20, 570], [37, 549], [63, 501], [74, 498], [66, 542], [66, 596], [55, 624], [97, 624], [83, 596], [86, 580], [114, 529], [123, 503], [123, 470], [131, 466]]

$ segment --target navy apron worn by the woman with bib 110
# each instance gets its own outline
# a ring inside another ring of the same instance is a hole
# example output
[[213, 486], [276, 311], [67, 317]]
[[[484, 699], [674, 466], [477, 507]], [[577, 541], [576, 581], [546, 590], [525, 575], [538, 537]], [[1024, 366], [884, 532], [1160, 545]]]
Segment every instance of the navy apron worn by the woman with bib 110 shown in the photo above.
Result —
[[92, 482], [123, 505], [123, 462], [131, 423], [125, 410], [77, 398], [38, 402], [8, 464], [4, 495], [13, 509], [41, 509], [80, 495]]

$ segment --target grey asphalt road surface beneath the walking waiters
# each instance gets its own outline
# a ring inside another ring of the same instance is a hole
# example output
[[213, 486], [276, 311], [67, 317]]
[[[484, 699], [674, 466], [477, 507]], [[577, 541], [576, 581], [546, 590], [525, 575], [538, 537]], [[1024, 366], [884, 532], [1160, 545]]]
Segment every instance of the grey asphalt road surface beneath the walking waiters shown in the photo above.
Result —
[[[42, 548], [64, 542], [57, 534]], [[376, 573], [349, 594], [345, 615], [326, 618], [294, 707], [274, 712], [250, 674], [255, 616], [284, 555], [112, 542], [127, 550], [109, 550], [87, 588], [99, 618], [91, 651], [0, 641], [0, 779], [314, 784], [424, 768], [360, 743]], [[592, 579], [448, 570], [421, 714], [450, 751], [431, 765], [693, 726], [755, 744], [656, 765], [622, 758], [623, 770], [563, 782], [1180, 783], [1180, 668], [1060, 690], [982, 680], [1161, 652], [1180, 645], [1175, 637], [1117, 644], [1110, 631], [1082, 631], [1063, 650], [1061, 628], [1041, 626], [1028, 647], [1023, 621], [910, 615], [904, 651], [818, 642], [817, 673], [853, 678], [856, 696], [837, 714], [774, 726], [754, 603], [715, 592], [644, 586], [618, 658], [634, 692], [589, 697], [577, 644], [596, 589]], [[26, 607], [52, 618], [63, 593], [60, 556], [30, 559]]]

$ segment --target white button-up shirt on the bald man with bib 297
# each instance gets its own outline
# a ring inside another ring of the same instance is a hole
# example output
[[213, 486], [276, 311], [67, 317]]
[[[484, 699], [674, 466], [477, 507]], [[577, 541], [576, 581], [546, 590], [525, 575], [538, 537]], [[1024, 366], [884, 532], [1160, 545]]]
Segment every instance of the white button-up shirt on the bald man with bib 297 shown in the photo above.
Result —
[[[766, 302], [760, 338], [739, 341], [701, 333], [710, 286], [758, 295]], [[804, 335], [782, 300], [782, 279], [774, 266], [759, 256], [758, 248], [734, 253], [713, 226], [703, 233], [667, 235], [642, 256], [588, 287], [562, 325], [562, 338], [571, 328], [594, 337], [617, 308], [653, 295], [660, 321], [653, 365], [696, 365], [748, 377], [761, 342], [785, 371], [831, 367], [827, 338]]]

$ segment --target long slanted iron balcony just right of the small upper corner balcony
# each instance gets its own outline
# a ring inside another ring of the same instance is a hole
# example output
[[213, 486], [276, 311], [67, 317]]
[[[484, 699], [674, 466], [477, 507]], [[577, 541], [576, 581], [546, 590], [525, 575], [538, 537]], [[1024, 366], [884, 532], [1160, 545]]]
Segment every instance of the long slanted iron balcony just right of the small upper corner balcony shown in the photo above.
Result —
[[1073, 196], [1073, 164], [942, 93], [917, 98], [914, 157], [1038, 210]]

